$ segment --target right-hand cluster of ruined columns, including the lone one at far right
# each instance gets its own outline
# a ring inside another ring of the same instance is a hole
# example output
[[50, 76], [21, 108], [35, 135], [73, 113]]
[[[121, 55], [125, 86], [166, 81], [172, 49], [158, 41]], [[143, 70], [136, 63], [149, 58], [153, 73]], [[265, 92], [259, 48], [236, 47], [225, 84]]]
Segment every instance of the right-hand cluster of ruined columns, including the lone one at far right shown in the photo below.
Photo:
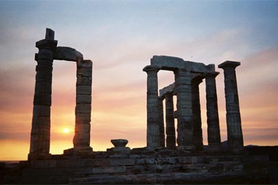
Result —
[[[229, 149], [241, 152], [243, 149], [242, 125], [238, 102], [238, 88], [235, 67], [240, 62], [226, 61], [218, 67], [224, 69], [224, 84], [227, 110]], [[159, 90], [157, 73], [160, 70], [173, 71], [175, 82]], [[147, 147], [166, 147], [187, 151], [202, 151], [202, 123], [200, 117], [199, 84], [205, 79], [207, 98], [207, 136], [209, 151], [220, 151], [220, 127], [218, 99], [214, 64], [205, 65], [185, 61], [181, 58], [154, 56], [143, 71], [148, 73], [147, 90]], [[174, 112], [173, 96], [176, 95], [177, 110]], [[163, 99], [165, 99], [165, 120], [163, 123]], [[177, 138], [174, 119], [178, 120]], [[166, 132], [165, 132], [166, 131]]]

